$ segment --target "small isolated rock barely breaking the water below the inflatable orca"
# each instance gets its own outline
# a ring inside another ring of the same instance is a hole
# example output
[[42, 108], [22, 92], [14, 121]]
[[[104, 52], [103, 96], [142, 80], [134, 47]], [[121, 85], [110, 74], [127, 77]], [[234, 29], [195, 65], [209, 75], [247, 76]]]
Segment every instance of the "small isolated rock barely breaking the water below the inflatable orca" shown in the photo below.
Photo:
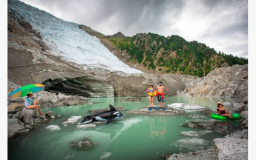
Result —
[[98, 144], [98, 142], [91, 141], [91, 136], [85, 136], [84, 139], [70, 142], [70, 147], [73, 147], [75, 150], [91, 150]]

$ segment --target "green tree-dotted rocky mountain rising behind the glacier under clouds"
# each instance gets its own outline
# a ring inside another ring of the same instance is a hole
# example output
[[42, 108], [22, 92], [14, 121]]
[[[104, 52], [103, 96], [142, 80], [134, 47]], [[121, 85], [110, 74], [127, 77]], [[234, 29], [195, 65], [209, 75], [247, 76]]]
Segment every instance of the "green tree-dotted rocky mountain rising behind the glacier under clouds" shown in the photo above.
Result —
[[128, 37], [118, 32], [105, 36], [91, 27], [79, 26], [119, 59], [145, 73], [180, 73], [206, 76], [216, 67], [247, 64], [247, 59], [217, 53], [213, 48], [197, 41], [186, 41], [180, 36], [160, 36], [153, 33], [139, 33]]

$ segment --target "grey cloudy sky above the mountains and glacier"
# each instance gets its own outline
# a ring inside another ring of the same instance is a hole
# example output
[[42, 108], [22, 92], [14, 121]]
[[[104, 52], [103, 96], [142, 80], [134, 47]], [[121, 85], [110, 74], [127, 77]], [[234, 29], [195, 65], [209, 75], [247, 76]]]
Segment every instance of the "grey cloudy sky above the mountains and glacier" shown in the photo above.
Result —
[[105, 35], [179, 35], [248, 56], [247, 0], [21, 0]]

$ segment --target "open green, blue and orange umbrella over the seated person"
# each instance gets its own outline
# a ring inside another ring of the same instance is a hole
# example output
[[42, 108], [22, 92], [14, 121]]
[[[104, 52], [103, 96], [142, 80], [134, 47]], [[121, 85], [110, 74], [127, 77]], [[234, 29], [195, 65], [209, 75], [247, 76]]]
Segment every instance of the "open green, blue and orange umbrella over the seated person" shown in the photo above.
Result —
[[45, 85], [42, 84], [28, 84], [26, 86], [20, 87], [16, 90], [14, 90], [12, 93], [8, 95], [9, 99], [13, 99], [16, 97], [23, 97], [27, 96], [27, 93], [36, 93], [40, 90], [43, 90], [45, 88]]

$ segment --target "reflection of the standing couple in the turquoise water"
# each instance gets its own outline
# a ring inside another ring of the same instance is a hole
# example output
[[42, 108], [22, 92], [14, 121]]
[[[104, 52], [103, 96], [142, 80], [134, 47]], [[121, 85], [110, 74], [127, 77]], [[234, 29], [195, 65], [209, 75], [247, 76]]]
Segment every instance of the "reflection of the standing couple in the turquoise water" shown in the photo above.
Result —
[[156, 136], [160, 136], [160, 138], [165, 137], [166, 129], [165, 129], [165, 117], [161, 116], [160, 121], [157, 121], [157, 129], [154, 125], [154, 119], [159, 120], [156, 118], [150, 118], [150, 135], [149, 137], [154, 138]]

